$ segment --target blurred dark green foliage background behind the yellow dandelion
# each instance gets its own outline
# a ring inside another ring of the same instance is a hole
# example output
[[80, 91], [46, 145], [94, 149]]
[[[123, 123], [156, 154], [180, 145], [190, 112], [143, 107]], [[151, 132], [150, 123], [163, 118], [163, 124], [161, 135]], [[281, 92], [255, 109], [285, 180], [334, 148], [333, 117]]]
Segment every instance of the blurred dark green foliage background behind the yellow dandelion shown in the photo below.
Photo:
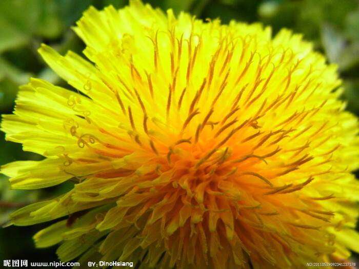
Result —
[[[144, 1], [175, 14], [188, 11], [198, 18], [220, 17], [262, 22], [271, 25], [273, 34], [283, 27], [303, 33], [314, 48], [336, 63], [343, 79], [347, 109], [359, 115], [359, 1], [357, 0], [151, 0]], [[30, 77], [46, 79], [66, 87], [39, 57], [42, 43], [61, 54], [68, 50], [81, 54], [83, 42], [71, 30], [90, 5], [102, 9], [121, 8], [128, 0], [0, 0], [0, 114], [10, 114], [19, 85]], [[23, 152], [21, 144], [6, 142], [0, 132], [0, 165], [14, 160], [39, 160], [42, 157]], [[0, 225], [8, 214], [23, 205], [55, 197], [70, 186], [62, 184], [45, 190], [10, 190], [7, 178], [0, 175]], [[30, 227], [0, 229], [0, 262], [19, 259], [56, 261], [56, 247], [36, 250], [32, 236], [49, 223]], [[356, 256], [357, 257], [357, 256]], [[42, 267], [45, 268], [45, 267]]]

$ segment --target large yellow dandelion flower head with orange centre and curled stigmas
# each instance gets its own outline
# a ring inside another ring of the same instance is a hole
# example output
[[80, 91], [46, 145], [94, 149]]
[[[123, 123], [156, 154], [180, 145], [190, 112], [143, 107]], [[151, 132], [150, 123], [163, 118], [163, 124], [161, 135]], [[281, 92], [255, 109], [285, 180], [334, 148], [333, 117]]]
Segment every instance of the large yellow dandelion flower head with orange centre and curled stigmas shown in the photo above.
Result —
[[89, 61], [39, 53], [78, 93], [31, 79], [2, 122], [7, 140], [46, 157], [4, 165], [12, 188], [75, 181], [11, 215], [69, 215], [38, 247], [178, 269], [305, 268], [359, 252], [357, 119], [337, 99], [336, 67], [300, 35], [137, 0], [90, 8], [74, 30]]

